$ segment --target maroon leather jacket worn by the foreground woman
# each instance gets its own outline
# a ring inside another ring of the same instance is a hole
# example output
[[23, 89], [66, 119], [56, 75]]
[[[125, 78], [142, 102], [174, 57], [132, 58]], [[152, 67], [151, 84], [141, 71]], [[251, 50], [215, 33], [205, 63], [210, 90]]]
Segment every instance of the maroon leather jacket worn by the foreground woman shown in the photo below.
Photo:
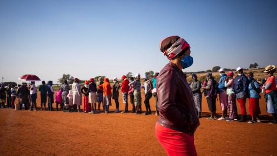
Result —
[[168, 63], [157, 77], [158, 123], [193, 135], [199, 126], [192, 91], [186, 75], [174, 63]]

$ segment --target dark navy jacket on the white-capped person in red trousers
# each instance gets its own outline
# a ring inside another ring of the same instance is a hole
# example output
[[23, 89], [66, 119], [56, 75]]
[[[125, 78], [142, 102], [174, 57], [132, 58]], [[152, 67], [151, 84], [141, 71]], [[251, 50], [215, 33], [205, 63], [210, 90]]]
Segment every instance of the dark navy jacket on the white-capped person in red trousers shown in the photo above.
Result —
[[248, 86], [249, 86], [249, 80], [248, 78], [242, 74], [240, 76], [236, 76], [234, 78], [234, 92], [235, 94], [242, 94], [242, 95], [248, 95]]

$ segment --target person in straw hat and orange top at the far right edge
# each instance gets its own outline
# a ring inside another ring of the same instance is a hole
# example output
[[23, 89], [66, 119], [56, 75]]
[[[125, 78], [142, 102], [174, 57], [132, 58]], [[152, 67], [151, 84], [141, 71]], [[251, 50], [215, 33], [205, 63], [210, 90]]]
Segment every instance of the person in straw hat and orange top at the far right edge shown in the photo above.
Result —
[[276, 90], [276, 81], [274, 77], [274, 73], [276, 72], [275, 65], [269, 65], [266, 67], [264, 71], [267, 73], [268, 79], [263, 86], [263, 89], [266, 89], [266, 103], [267, 103], [267, 112], [271, 113], [273, 116], [273, 120], [269, 122], [270, 124], [277, 123], [277, 90]]

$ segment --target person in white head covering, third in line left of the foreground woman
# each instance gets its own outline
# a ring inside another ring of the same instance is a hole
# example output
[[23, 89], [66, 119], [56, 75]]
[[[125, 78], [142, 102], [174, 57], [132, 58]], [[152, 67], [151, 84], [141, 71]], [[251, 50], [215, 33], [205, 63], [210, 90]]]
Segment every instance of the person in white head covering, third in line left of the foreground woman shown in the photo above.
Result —
[[141, 114], [141, 94], [140, 94], [140, 74], [135, 75], [136, 80], [129, 83], [130, 87], [134, 88], [134, 101], [136, 106], [136, 114]]

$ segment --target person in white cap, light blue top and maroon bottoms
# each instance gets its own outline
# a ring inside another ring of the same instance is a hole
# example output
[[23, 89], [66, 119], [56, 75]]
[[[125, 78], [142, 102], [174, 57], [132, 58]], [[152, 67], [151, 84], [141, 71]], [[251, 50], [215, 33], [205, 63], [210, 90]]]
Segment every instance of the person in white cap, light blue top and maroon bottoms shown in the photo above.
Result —
[[219, 70], [220, 74], [220, 79], [218, 81], [218, 89], [217, 92], [219, 94], [219, 102], [221, 105], [221, 110], [222, 110], [222, 117], [219, 118], [218, 120], [226, 120], [228, 118], [227, 115], [227, 109], [228, 109], [228, 95], [226, 92], [226, 87], [225, 87], [225, 79], [227, 75], [225, 74], [225, 69], [221, 68]]

